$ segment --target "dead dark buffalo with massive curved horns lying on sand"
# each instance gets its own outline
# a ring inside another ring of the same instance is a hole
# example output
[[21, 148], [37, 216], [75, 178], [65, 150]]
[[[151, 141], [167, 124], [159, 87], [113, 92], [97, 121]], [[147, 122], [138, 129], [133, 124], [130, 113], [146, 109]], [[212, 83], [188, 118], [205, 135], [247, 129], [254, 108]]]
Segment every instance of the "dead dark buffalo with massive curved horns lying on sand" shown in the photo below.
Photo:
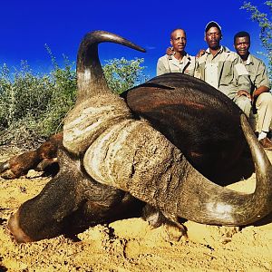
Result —
[[[58, 151], [60, 171], [9, 219], [15, 239], [52, 238], [69, 228], [121, 218], [135, 209], [136, 199], [178, 226], [180, 218], [241, 226], [270, 213], [272, 167], [238, 107], [208, 84], [180, 73], [156, 77], [122, 99], [109, 90], [102, 73], [97, 48], [102, 42], [143, 51], [107, 32], [83, 38], [77, 102], [64, 121]], [[215, 141], [211, 145], [209, 138]], [[194, 146], [183, 154], [183, 144], [190, 141]], [[220, 187], [193, 166], [202, 165], [203, 171], [206, 160], [234, 160], [235, 149], [246, 141], [257, 173], [252, 194]]]

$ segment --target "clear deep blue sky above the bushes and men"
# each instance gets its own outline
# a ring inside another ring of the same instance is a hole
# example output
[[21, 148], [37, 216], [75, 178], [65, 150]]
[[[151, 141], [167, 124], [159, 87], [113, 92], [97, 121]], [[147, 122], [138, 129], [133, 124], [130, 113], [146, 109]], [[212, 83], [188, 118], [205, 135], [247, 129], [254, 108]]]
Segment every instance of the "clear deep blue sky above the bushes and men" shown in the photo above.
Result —
[[[264, 0], [251, 0], [260, 11], [268, 12]], [[170, 44], [170, 32], [186, 30], [187, 52], [196, 54], [206, 48], [204, 27], [217, 21], [222, 27], [221, 44], [233, 49], [233, 34], [241, 30], [252, 36], [251, 53], [264, 51], [258, 39], [259, 27], [250, 14], [241, 10], [243, 0], [230, 1], [148, 1], [148, 0], [3, 0], [0, 4], [0, 64], [18, 66], [26, 60], [34, 71], [49, 72], [48, 44], [59, 64], [63, 53], [75, 61], [84, 34], [105, 30], [131, 40], [147, 49], [138, 53], [115, 44], [100, 46], [101, 59], [143, 57], [146, 72], [155, 76], [158, 58]]]

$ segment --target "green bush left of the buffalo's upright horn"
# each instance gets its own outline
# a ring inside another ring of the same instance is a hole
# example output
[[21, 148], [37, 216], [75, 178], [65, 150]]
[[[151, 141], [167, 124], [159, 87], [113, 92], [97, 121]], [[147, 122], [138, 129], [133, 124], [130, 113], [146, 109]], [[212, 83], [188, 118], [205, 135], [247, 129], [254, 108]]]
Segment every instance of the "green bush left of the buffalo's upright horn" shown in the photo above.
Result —
[[54, 67], [50, 74], [34, 74], [26, 62], [11, 73], [4, 64], [0, 73], [1, 144], [44, 139], [62, 129], [73, 106], [76, 77], [73, 64]]

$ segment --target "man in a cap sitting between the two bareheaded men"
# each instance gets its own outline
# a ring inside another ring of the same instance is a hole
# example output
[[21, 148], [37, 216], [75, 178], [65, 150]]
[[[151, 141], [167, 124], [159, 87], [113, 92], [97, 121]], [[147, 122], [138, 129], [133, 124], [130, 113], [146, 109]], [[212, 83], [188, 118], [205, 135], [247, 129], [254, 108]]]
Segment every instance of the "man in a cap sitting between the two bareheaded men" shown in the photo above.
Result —
[[225, 93], [249, 117], [251, 83], [248, 71], [238, 53], [220, 45], [221, 39], [219, 24], [209, 22], [204, 36], [209, 48], [199, 57], [195, 76]]

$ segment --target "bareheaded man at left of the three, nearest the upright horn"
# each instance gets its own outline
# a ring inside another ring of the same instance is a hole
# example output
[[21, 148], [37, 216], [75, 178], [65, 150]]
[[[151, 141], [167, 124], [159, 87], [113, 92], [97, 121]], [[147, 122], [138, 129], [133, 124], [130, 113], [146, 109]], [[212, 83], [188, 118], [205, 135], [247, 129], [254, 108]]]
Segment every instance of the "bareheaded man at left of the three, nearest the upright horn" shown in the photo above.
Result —
[[187, 73], [194, 75], [196, 59], [185, 52], [187, 39], [183, 29], [175, 29], [170, 34], [173, 53], [160, 57], [157, 63], [157, 75], [163, 73]]

